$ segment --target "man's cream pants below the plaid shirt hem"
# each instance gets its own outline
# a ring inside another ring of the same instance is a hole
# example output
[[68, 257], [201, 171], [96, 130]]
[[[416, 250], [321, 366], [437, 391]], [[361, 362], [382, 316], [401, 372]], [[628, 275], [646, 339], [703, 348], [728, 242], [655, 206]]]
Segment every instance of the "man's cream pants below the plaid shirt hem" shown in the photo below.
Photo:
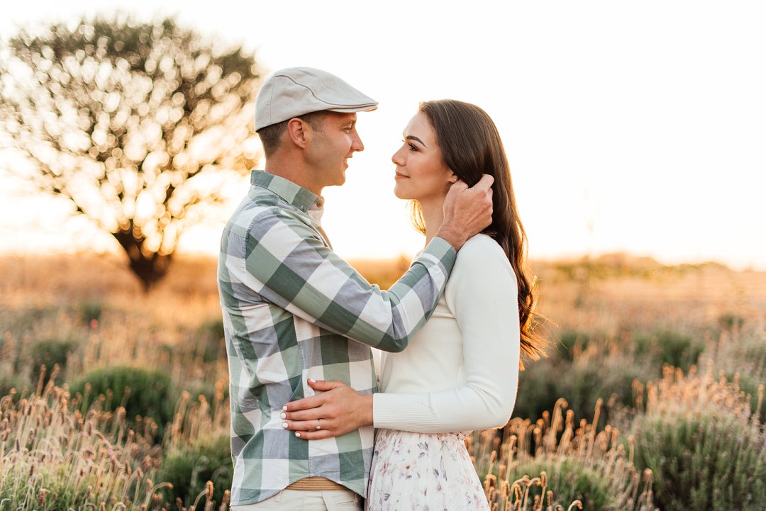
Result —
[[259, 503], [231, 506], [231, 511], [362, 511], [362, 502], [351, 490], [282, 490]]

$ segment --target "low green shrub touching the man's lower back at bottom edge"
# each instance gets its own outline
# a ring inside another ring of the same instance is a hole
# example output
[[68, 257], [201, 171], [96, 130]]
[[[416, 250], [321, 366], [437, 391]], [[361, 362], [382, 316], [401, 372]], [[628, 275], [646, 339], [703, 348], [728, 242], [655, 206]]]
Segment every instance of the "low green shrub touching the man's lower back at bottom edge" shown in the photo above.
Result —
[[213, 483], [213, 500], [220, 503], [224, 491], [231, 489], [233, 476], [229, 435], [217, 435], [170, 451], [162, 461], [158, 479], [173, 485], [172, 490], [164, 490], [166, 501], [178, 498], [191, 506], [208, 480]]

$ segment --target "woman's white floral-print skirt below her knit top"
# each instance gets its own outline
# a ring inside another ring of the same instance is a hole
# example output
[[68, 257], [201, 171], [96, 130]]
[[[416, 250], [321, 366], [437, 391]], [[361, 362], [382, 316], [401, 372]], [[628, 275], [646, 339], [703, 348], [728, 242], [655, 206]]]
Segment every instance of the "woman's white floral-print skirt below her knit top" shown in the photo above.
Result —
[[368, 511], [489, 511], [464, 438], [375, 430]]

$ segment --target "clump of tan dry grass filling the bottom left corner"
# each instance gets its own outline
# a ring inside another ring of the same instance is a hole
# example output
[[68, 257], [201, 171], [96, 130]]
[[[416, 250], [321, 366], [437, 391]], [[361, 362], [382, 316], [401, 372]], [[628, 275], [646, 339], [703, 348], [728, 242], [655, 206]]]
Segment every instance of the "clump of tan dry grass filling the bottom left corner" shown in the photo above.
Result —
[[[82, 415], [64, 389], [0, 401], [0, 509], [137, 509], [162, 484], [159, 450], [126, 431], [124, 410]], [[132, 506], [135, 504], [135, 506]], [[6, 507], [7, 506], [7, 507]]]

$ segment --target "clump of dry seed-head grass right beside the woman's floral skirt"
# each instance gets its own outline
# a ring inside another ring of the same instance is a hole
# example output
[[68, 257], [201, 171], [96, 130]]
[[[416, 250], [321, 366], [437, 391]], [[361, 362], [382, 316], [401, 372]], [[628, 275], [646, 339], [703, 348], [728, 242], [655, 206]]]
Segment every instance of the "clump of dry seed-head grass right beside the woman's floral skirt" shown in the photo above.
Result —
[[[513, 419], [502, 430], [481, 431], [469, 440], [476, 470], [493, 509], [548, 509], [577, 502], [581, 509], [653, 511], [652, 474], [633, 466], [632, 450], [620, 431], [575, 424], [560, 399], [537, 421]], [[539, 477], [529, 477], [539, 474]]]

